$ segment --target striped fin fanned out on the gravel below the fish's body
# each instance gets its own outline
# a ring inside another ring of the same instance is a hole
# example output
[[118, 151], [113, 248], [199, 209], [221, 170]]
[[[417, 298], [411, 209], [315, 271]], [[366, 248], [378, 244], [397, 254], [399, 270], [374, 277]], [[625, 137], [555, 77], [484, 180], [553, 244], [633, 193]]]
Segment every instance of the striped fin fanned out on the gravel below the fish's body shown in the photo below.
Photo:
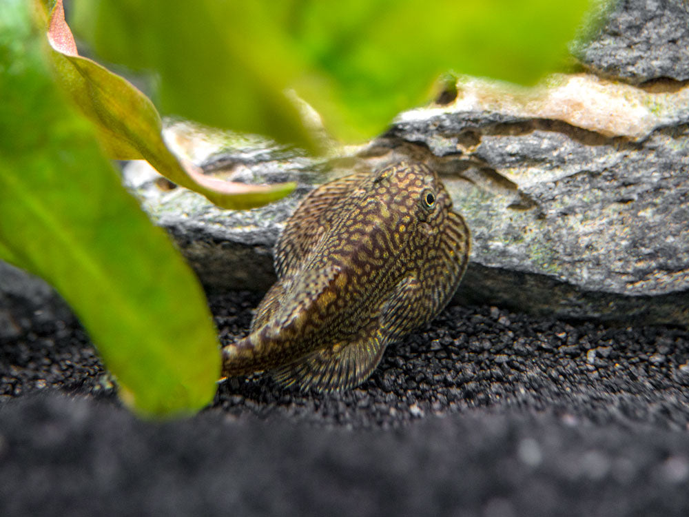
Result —
[[302, 391], [337, 392], [360, 385], [380, 363], [387, 345], [380, 330], [362, 333], [356, 341], [336, 343], [316, 350], [271, 374], [284, 386]]

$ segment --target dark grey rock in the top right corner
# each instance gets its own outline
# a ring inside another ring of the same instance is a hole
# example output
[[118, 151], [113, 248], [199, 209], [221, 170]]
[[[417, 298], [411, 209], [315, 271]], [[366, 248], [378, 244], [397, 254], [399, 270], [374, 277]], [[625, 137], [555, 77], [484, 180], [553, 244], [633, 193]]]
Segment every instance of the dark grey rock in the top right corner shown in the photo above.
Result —
[[590, 71], [633, 83], [689, 80], [689, 3], [621, 0], [592, 41], [574, 49]]

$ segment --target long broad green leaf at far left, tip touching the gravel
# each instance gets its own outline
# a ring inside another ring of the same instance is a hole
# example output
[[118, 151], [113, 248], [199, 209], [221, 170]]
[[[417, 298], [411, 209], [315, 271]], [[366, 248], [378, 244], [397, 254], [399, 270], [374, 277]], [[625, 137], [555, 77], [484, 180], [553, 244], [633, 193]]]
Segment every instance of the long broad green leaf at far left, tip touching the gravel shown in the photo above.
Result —
[[46, 47], [24, 0], [0, 3], [0, 254], [70, 303], [134, 409], [203, 407], [220, 372], [203, 291], [59, 94]]

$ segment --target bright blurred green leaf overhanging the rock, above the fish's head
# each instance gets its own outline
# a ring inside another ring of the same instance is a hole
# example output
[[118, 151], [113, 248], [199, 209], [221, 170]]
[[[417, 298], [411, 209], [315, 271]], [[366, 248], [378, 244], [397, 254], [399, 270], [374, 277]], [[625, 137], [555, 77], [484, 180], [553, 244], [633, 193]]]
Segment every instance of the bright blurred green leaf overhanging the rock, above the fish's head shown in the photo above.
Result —
[[291, 35], [316, 73], [303, 74], [295, 88], [338, 134], [356, 139], [429, 101], [445, 72], [535, 83], [564, 64], [589, 2], [296, 3], [300, 23]]

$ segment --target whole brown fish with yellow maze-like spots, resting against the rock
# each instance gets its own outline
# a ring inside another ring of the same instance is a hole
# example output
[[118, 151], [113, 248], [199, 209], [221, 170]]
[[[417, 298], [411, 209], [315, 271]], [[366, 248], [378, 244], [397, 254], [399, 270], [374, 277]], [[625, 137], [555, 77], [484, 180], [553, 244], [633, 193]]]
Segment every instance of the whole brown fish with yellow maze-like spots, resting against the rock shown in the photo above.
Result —
[[287, 221], [278, 282], [223, 376], [269, 370], [284, 385], [359, 385], [389, 343], [434, 318], [460, 283], [469, 228], [438, 175], [397, 163], [321, 185]]

